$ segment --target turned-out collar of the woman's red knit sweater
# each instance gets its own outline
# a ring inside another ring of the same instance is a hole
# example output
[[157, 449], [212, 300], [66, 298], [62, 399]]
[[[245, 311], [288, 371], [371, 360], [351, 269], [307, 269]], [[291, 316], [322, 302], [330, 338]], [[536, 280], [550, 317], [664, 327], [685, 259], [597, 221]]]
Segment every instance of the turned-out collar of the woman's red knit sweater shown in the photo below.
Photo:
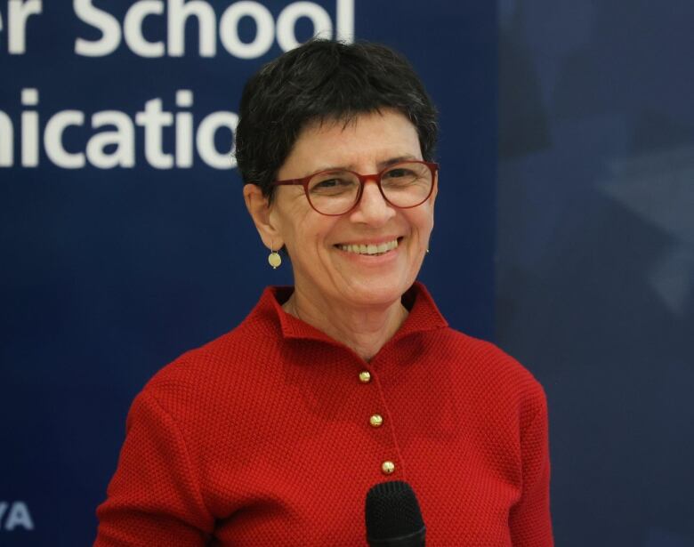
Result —
[[[336, 341], [327, 334], [282, 309], [282, 304], [293, 292], [293, 286], [269, 286], [262, 293], [258, 308], [273, 316], [287, 339], [302, 338], [335, 343]], [[400, 326], [391, 342], [410, 334], [424, 333], [448, 326], [448, 322], [433, 302], [432, 295], [418, 281], [402, 295], [402, 303], [409, 310], [408, 318]]]

